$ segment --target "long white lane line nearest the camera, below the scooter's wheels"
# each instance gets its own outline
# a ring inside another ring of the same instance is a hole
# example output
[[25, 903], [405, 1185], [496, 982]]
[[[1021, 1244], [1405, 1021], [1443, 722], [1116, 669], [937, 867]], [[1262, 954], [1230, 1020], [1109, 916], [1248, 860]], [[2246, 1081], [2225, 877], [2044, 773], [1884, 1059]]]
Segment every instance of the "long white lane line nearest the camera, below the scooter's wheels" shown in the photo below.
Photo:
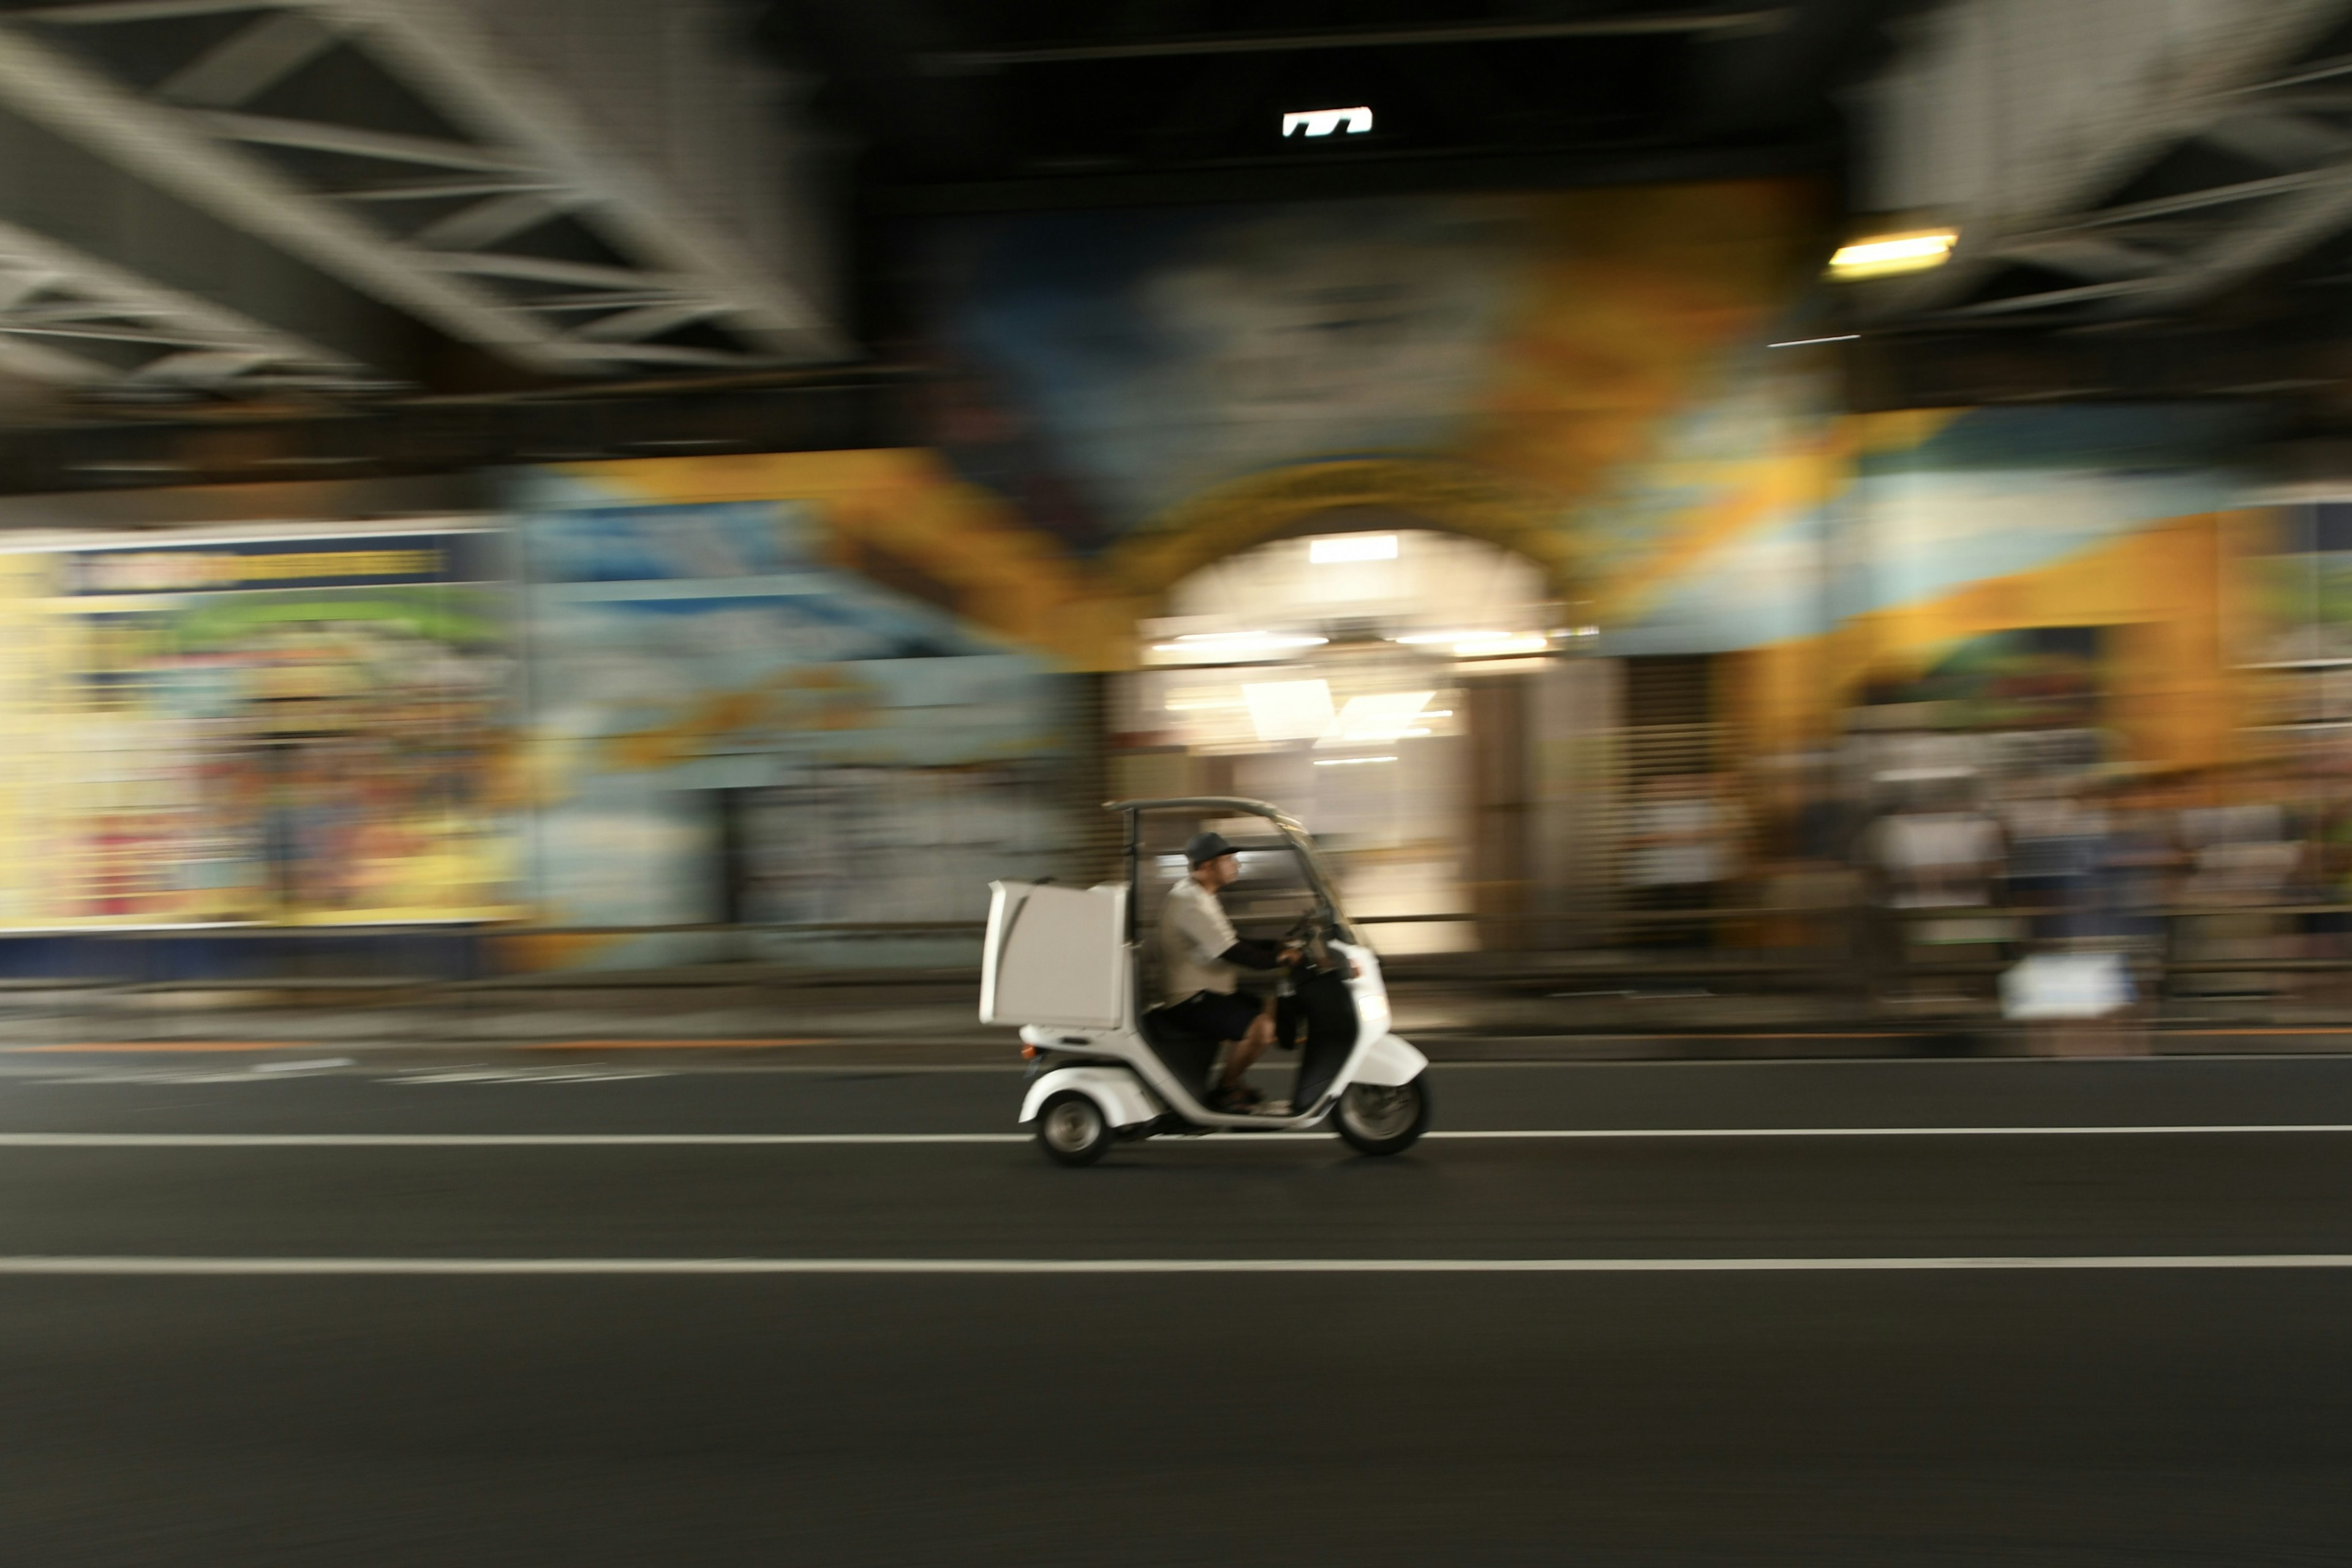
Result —
[[0, 1274], [1943, 1274], [2347, 1267], [2352, 1267], [2352, 1253], [2072, 1258], [0, 1258]]

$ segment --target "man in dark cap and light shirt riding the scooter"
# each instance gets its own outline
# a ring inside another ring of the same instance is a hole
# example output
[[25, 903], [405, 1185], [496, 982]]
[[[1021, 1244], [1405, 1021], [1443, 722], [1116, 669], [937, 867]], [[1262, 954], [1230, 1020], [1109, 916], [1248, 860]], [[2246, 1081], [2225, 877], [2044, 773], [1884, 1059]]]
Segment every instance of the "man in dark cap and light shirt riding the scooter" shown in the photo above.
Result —
[[1160, 912], [1160, 978], [1167, 987], [1169, 1023], [1225, 1044], [1225, 1074], [1209, 1095], [1214, 1110], [1247, 1112], [1263, 1100], [1242, 1081], [1265, 1046], [1275, 1044], [1275, 999], [1263, 1004], [1235, 994], [1242, 969], [1279, 969], [1296, 950], [1232, 933], [1218, 889], [1242, 875], [1232, 844], [1216, 832], [1195, 832], [1183, 846], [1185, 875], [1169, 889]]

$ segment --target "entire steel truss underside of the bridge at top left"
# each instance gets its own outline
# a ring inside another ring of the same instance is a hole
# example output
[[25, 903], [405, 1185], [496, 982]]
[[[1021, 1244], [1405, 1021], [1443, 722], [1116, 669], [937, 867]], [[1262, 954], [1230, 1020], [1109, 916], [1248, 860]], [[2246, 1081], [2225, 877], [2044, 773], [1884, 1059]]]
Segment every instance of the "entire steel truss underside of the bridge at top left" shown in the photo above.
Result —
[[0, 7], [0, 371], [477, 390], [851, 353], [715, 0]]

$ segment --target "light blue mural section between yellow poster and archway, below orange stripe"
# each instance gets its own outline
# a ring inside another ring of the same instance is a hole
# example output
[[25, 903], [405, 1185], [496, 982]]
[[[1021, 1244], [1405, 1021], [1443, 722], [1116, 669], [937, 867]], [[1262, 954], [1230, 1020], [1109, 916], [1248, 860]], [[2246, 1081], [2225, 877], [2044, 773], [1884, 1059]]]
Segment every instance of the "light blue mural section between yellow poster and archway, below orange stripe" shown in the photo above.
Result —
[[[644, 505], [562, 475], [520, 498], [546, 924], [978, 919], [990, 877], [1061, 870], [1065, 677], [1044, 661], [823, 562], [797, 503]], [[753, 957], [729, 940], [583, 961]], [[757, 954], [962, 957], [962, 938], [776, 940]]]

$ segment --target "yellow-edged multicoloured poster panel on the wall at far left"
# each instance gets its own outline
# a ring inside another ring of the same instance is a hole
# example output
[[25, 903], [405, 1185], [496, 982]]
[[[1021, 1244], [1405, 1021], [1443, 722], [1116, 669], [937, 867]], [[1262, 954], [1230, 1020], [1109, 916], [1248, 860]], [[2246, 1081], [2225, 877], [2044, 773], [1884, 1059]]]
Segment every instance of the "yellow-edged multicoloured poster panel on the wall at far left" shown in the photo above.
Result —
[[0, 555], [0, 922], [510, 914], [506, 576], [470, 524]]

